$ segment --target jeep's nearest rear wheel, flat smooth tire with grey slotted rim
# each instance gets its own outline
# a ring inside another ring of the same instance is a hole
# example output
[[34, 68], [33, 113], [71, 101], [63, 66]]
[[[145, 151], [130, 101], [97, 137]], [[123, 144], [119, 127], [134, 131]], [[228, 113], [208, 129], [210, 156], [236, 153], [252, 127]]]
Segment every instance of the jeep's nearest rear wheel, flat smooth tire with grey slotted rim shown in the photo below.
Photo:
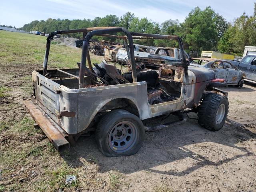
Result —
[[108, 157], [133, 155], [144, 142], [144, 125], [126, 110], [108, 112], [96, 127], [100, 151]]

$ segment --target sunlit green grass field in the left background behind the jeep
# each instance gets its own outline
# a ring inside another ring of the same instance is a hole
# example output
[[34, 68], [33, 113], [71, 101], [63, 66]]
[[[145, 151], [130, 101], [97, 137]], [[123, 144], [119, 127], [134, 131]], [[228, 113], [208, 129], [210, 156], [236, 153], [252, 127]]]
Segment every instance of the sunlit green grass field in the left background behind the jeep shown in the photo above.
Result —
[[[46, 37], [33, 34], [0, 31], [0, 64], [40, 64], [44, 61]], [[49, 68], [77, 68], [81, 49], [51, 42]], [[92, 63], [100, 62], [92, 59]]]

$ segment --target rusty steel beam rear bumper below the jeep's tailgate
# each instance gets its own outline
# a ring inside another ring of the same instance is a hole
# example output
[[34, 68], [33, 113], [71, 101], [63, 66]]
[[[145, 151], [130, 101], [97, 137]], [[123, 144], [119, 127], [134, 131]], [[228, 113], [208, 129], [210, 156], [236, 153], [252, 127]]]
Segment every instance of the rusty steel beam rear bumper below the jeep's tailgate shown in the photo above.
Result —
[[24, 101], [24, 105], [36, 124], [40, 126], [44, 134], [48, 137], [50, 142], [53, 143], [54, 147], [59, 151], [62, 148], [69, 148], [69, 142], [64, 138], [57, 128], [50, 122], [46, 116], [44, 116], [39, 106], [36, 106], [32, 101]]

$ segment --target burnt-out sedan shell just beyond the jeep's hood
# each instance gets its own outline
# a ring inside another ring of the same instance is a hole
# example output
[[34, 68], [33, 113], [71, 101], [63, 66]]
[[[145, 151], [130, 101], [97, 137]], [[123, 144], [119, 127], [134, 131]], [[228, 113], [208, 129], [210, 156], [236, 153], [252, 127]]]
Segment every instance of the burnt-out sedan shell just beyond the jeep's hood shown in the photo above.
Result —
[[246, 74], [236, 68], [230, 61], [215, 58], [193, 58], [190, 66], [214, 70], [216, 78], [224, 79], [228, 85], [241, 88]]

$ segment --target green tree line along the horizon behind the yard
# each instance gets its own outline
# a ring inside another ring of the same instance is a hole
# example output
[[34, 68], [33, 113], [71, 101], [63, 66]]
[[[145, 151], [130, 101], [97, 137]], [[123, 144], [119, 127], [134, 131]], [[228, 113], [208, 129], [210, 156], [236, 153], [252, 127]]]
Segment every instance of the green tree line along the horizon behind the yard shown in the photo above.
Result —
[[[49, 18], [47, 20], [34, 20], [25, 24], [21, 30], [37, 30], [40, 32], [53, 32], [56, 30], [88, 28], [97, 26], [122, 26], [133, 32], [152, 34], [174, 34], [182, 38], [186, 52], [194, 52], [200, 56], [202, 50], [213, 50], [223, 53], [242, 55], [244, 46], [256, 46], [256, 3], [254, 15], [246, 13], [229, 23], [223, 16], [215, 12], [210, 6], [201, 10], [194, 8], [184, 22], [166, 20], [162, 24], [138, 18], [133, 13], [127, 12], [120, 18], [116, 15], [106, 15], [90, 19], [60, 20]], [[72, 34], [71, 37], [82, 38], [82, 34]], [[100, 40], [102, 37], [98, 37]], [[145, 41], [144, 44], [154, 43], [161, 46], [162, 41]]]

